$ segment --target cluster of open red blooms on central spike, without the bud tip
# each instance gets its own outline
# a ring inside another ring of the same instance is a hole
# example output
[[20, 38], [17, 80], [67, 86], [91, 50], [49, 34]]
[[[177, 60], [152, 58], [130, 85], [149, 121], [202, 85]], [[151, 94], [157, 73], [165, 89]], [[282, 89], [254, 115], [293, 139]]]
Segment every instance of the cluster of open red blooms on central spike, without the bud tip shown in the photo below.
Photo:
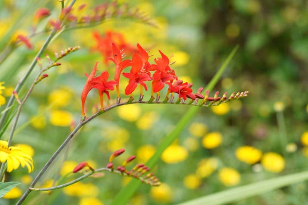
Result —
[[[134, 90], [140, 85], [141, 95], [143, 95], [143, 88], [147, 91], [148, 88], [145, 84], [146, 81], [152, 81], [151, 94], [158, 93], [164, 88], [165, 85], [168, 86], [167, 97], [169, 93], [177, 93], [179, 99], [186, 100], [190, 98], [195, 100], [196, 98], [204, 98], [200, 94], [202, 88], [198, 90], [197, 94], [192, 93], [191, 83], [183, 82], [183, 80], [178, 79], [174, 70], [170, 68], [169, 58], [159, 50], [161, 57], [155, 58], [155, 64], [149, 63], [148, 53], [137, 44], [137, 51], [133, 53], [131, 60], [126, 59], [122, 60], [125, 57], [124, 50], [119, 50], [118, 46], [114, 43], [111, 43], [112, 58], [107, 58], [111, 60], [115, 65], [115, 74], [114, 80], [108, 81], [108, 72], [104, 71], [99, 77], [95, 77], [97, 71], [97, 65], [95, 64], [92, 72], [86, 81], [86, 85], [83, 89], [81, 99], [82, 99], [82, 115], [85, 115], [85, 101], [88, 93], [91, 89], [96, 88], [99, 90], [101, 98], [101, 108], [103, 109], [103, 94], [106, 93], [109, 97], [109, 91], [112, 91], [113, 86], [117, 87], [118, 98], [120, 97], [119, 93], [119, 80], [123, 69], [126, 67], [131, 67], [129, 73], [122, 73], [122, 75], [128, 78], [128, 85], [125, 89], [125, 95], [131, 95]], [[173, 95], [173, 94], [172, 94]]]

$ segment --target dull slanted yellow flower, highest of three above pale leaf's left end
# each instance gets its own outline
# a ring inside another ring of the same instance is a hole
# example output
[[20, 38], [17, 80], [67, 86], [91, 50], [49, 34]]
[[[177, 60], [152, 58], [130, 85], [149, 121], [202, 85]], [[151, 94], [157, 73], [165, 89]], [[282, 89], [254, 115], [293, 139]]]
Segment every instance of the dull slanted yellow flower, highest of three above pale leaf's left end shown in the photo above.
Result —
[[205, 158], [199, 162], [196, 174], [201, 178], [206, 178], [216, 171], [218, 161], [216, 158]]

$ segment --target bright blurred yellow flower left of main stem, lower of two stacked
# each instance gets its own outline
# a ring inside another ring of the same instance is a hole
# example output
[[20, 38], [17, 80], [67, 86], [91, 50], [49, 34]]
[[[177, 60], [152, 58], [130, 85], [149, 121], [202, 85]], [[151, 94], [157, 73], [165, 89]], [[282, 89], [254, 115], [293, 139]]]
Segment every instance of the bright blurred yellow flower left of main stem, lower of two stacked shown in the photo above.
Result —
[[51, 111], [50, 122], [54, 126], [67, 127], [73, 121], [73, 115], [64, 110]]

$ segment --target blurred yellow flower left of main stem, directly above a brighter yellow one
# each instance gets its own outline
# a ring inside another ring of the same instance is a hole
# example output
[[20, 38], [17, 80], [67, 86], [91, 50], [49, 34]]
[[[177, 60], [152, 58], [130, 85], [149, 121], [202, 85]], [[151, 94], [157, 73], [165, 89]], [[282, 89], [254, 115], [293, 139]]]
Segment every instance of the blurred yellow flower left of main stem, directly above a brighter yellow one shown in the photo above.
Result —
[[70, 104], [72, 91], [69, 88], [53, 90], [48, 95], [48, 103], [55, 107], [65, 107]]

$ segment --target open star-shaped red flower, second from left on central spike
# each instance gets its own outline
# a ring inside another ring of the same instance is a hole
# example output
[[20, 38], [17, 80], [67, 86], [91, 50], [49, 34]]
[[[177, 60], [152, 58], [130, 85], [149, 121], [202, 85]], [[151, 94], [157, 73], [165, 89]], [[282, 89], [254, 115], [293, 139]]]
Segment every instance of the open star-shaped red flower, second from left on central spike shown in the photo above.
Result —
[[109, 74], [107, 71], [102, 72], [102, 74], [99, 77], [93, 78], [90, 83], [93, 83], [93, 88], [96, 88], [99, 90], [100, 99], [101, 99], [101, 107], [103, 106], [103, 95], [106, 93], [108, 100], [110, 99], [110, 95], [108, 90], [114, 90], [114, 86], [118, 85], [119, 83], [114, 80], [108, 80]]

